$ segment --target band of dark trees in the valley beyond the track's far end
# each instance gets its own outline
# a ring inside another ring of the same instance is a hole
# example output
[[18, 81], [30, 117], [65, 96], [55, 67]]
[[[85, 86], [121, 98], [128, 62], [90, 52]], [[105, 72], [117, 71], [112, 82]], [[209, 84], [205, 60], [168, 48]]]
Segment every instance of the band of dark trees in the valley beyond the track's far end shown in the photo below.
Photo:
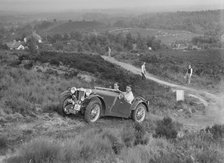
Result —
[[110, 47], [113, 51], [141, 51], [164, 48], [161, 40], [155, 37], [142, 37], [140, 34], [131, 33], [84, 33], [72, 32], [69, 34], [47, 35], [45, 41], [52, 44], [56, 50], [77, 51], [77, 52], [96, 52], [103, 54]]

